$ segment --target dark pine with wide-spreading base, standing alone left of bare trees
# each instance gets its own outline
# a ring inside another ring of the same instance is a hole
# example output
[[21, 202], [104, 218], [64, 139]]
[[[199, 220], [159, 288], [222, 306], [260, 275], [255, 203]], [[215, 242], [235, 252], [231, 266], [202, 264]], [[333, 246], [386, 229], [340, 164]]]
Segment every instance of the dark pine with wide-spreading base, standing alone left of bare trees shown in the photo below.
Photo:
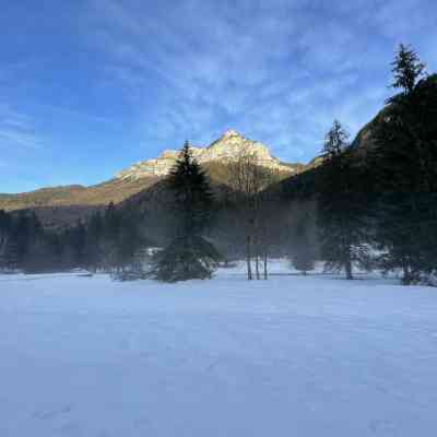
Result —
[[153, 276], [177, 282], [210, 277], [220, 259], [212, 244], [202, 237], [213, 208], [213, 196], [205, 173], [186, 143], [167, 184], [174, 193], [173, 210], [178, 217], [175, 237], [155, 256]]

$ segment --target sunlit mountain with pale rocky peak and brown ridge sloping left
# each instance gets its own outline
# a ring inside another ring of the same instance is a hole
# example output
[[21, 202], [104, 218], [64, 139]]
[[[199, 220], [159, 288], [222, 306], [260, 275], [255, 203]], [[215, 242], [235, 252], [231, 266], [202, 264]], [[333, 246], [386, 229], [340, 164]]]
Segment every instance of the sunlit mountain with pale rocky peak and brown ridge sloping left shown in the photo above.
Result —
[[[208, 147], [191, 147], [194, 157], [210, 174], [214, 185], [227, 178], [227, 165], [241, 154], [249, 153], [260, 166], [285, 178], [303, 172], [303, 164], [287, 164], [272, 156], [269, 149], [229, 130]], [[66, 225], [86, 216], [108, 203], [120, 203], [162, 180], [176, 162], [177, 151], [164, 151], [156, 160], [140, 162], [118, 173], [113, 179], [91, 186], [42, 188], [19, 194], [0, 194], [0, 210], [34, 210], [48, 226]]]

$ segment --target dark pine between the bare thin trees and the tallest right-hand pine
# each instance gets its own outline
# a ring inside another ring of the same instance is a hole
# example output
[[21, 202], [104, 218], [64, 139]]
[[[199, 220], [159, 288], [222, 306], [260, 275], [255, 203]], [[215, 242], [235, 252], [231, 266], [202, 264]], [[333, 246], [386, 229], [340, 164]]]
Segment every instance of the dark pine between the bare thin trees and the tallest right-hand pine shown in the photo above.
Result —
[[353, 262], [368, 265], [366, 193], [354, 164], [349, 134], [339, 121], [328, 132], [318, 188], [318, 226], [327, 270], [344, 269], [353, 279]]

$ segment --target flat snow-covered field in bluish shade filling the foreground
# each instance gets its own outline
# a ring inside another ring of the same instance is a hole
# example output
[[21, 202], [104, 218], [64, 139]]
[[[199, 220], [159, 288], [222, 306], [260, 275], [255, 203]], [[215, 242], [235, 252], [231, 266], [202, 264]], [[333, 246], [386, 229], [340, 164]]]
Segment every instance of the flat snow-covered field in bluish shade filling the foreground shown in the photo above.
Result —
[[243, 271], [0, 276], [0, 436], [435, 435], [435, 288]]

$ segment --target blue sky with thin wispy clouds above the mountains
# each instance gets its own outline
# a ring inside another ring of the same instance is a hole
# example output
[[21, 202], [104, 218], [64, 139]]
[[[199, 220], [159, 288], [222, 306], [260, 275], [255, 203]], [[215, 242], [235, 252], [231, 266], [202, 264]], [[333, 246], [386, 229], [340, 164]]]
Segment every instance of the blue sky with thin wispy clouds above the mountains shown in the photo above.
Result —
[[92, 185], [227, 129], [307, 162], [352, 134], [411, 44], [437, 67], [435, 0], [21, 0], [0, 14], [0, 192]]

